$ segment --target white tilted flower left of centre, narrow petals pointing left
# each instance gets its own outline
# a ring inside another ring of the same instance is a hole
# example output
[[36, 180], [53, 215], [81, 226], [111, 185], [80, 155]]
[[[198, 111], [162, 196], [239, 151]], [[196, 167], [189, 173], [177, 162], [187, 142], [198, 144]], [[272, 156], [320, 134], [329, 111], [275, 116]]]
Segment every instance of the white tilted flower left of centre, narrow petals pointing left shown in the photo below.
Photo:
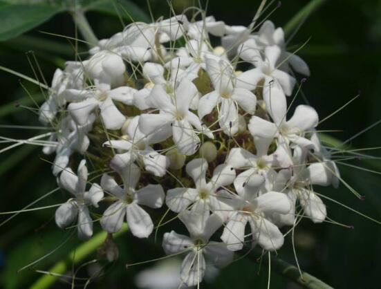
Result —
[[127, 127], [128, 140], [110, 140], [104, 145], [127, 151], [127, 153], [116, 154], [111, 160], [118, 162], [120, 166], [127, 167], [131, 162], [142, 160], [145, 169], [155, 176], [164, 176], [169, 166], [167, 156], [162, 156], [156, 152], [151, 145], [151, 138], [145, 136], [138, 127], [140, 116], [132, 118]]

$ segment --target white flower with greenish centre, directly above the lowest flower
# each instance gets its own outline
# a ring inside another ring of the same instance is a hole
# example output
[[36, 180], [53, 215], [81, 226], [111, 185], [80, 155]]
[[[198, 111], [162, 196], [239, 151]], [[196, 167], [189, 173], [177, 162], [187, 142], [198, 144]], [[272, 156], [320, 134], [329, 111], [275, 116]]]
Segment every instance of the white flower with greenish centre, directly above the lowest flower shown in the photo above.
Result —
[[209, 182], [206, 181], [207, 161], [204, 158], [195, 158], [187, 163], [188, 176], [194, 180], [196, 188], [176, 187], [169, 189], [165, 203], [174, 212], [183, 212], [189, 205], [192, 210], [212, 211], [224, 218], [229, 214], [231, 207], [223, 202], [230, 193], [220, 187], [233, 183], [236, 177], [234, 168], [230, 165], [219, 165], [214, 169]]

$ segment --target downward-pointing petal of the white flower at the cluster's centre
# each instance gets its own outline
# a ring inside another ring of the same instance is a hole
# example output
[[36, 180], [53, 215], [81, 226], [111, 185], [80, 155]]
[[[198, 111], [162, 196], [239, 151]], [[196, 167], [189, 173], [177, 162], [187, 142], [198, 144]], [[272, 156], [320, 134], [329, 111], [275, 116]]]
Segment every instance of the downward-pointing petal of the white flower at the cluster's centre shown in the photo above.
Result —
[[172, 134], [178, 151], [185, 156], [192, 156], [200, 147], [200, 138], [186, 120], [175, 120], [172, 125]]

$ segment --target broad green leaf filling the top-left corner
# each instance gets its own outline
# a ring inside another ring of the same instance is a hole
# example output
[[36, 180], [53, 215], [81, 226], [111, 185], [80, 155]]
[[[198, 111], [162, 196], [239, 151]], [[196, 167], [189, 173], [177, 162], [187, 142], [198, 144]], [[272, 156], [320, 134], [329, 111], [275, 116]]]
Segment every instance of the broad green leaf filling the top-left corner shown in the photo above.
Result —
[[0, 41], [16, 37], [64, 10], [48, 4], [10, 4], [0, 1]]

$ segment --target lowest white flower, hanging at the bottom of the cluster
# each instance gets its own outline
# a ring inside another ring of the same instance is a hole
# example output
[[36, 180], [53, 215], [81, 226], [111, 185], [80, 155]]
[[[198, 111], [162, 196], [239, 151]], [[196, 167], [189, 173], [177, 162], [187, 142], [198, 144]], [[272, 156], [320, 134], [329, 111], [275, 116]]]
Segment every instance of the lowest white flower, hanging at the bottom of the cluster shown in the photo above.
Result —
[[209, 241], [222, 225], [216, 214], [208, 215], [200, 211], [185, 211], [179, 214], [187, 227], [190, 237], [174, 231], [164, 234], [162, 247], [167, 254], [187, 252], [180, 268], [180, 279], [187, 286], [195, 286], [203, 281], [206, 269], [205, 259], [217, 268], [222, 268], [233, 259], [233, 252], [226, 245]]

